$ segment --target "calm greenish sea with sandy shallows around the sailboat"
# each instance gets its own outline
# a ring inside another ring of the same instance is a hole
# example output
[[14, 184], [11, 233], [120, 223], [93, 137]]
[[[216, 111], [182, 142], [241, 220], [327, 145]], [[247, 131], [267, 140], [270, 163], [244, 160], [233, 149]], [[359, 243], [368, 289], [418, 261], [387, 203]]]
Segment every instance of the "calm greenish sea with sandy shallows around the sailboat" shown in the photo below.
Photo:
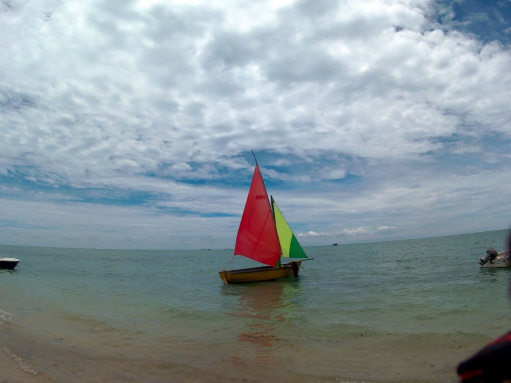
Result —
[[507, 234], [305, 247], [298, 278], [231, 285], [232, 249], [0, 245], [0, 354], [31, 381], [455, 382], [511, 329], [511, 269], [476, 262]]

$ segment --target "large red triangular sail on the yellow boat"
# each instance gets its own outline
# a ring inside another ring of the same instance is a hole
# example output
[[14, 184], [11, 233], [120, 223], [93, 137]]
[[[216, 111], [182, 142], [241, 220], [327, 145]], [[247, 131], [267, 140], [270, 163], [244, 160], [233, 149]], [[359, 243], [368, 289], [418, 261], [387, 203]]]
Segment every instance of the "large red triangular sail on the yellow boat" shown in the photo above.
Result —
[[241, 217], [234, 254], [252, 258], [269, 266], [275, 266], [281, 257], [281, 247], [268, 195], [257, 165]]

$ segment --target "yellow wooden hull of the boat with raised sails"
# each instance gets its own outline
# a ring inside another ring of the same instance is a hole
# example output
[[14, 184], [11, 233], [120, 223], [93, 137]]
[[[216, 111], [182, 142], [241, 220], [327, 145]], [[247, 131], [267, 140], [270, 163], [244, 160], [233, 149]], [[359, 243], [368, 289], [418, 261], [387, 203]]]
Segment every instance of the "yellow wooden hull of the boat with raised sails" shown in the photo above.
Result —
[[274, 280], [285, 278], [290, 275], [298, 276], [300, 271], [301, 260], [293, 261], [289, 264], [281, 265], [280, 267], [256, 267], [251, 269], [239, 270], [222, 270], [219, 272], [220, 279], [225, 284], [229, 283], [244, 283], [244, 282], [263, 282], [267, 280]]

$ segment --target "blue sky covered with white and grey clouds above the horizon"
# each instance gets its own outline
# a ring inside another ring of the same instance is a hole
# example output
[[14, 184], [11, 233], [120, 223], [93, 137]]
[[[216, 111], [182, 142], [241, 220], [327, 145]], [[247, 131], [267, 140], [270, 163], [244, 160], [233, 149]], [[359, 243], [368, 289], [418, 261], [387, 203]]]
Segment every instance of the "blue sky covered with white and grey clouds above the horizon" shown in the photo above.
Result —
[[[511, 0], [0, 0], [0, 243], [508, 228]], [[489, 245], [491, 246], [491, 244]]]

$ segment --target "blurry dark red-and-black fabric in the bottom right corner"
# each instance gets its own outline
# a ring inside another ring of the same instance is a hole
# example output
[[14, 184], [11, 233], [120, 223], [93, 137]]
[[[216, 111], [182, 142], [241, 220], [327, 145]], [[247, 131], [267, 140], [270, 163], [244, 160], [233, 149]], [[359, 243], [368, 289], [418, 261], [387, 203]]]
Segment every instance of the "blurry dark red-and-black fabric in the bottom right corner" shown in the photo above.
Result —
[[511, 379], [511, 331], [458, 365], [462, 383], [502, 383]]

